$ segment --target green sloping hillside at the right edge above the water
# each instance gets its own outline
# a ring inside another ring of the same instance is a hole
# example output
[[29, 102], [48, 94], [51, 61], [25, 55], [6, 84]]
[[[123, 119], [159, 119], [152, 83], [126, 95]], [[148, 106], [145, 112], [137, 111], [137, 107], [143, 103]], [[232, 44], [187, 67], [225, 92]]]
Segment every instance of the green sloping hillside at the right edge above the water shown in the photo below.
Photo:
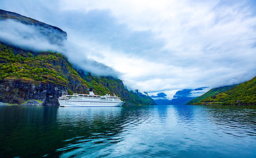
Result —
[[256, 76], [230, 90], [212, 95], [194, 104], [255, 105]]

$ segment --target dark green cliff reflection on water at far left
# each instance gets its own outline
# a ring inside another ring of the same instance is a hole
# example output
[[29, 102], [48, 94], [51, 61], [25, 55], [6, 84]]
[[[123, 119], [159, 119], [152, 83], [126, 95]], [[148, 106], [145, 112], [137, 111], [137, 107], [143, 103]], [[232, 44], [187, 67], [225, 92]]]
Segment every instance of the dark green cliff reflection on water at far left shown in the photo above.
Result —
[[52, 150], [56, 116], [55, 107], [0, 106], [0, 157], [36, 157]]

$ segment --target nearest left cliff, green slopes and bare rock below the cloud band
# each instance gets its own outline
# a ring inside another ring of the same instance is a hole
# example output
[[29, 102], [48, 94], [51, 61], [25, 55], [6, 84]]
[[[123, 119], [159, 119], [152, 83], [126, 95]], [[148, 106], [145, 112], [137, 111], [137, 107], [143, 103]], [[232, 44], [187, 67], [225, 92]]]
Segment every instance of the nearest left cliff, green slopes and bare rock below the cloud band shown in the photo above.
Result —
[[57, 97], [86, 88], [63, 55], [0, 44], [0, 102], [20, 105], [35, 99], [58, 105]]

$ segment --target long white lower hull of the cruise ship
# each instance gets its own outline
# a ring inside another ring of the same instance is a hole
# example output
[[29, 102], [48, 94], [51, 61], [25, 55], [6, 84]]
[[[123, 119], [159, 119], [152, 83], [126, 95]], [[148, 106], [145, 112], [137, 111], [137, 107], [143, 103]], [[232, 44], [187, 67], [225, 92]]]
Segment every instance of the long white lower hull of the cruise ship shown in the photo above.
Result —
[[59, 100], [59, 107], [121, 107], [124, 101], [70, 101]]

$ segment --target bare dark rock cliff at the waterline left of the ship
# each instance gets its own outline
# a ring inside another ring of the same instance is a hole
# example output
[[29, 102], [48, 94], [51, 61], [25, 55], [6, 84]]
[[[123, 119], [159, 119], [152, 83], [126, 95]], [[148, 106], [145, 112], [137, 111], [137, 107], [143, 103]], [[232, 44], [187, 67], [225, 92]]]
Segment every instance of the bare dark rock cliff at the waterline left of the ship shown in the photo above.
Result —
[[31, 99], [42, 105], [58, 105], [57, 97], [67, 94], [67, 86], [7, 77], [0, 82], [0, 102], [22, 105]]

